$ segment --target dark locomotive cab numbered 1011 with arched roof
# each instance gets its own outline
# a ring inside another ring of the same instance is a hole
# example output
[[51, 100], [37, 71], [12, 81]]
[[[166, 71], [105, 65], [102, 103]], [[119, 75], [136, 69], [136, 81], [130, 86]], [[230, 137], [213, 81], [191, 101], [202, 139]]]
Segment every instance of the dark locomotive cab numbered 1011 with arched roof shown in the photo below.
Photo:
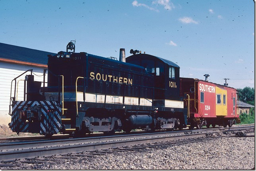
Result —
[[155, 88], [154, 105], [165, 107], [177, 107], [182, 104], [173, 103], [180, 101], [180, 67], [175, 63], [147, 54], [136, 54], [126, 58], [127, 63], [140, 65], [148, 74], [153, 75]]

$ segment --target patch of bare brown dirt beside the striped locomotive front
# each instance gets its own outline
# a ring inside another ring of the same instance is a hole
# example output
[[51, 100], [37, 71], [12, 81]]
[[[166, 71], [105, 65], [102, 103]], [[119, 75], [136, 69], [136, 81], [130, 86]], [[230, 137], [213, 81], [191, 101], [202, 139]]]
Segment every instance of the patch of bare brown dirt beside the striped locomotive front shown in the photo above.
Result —
[[9, 126], [0, 124], [0, 138], [7, 138], [7, 137], [26, 137], [26, 136], [39, 136], [39, 133], [17, 133], [12, 132]]

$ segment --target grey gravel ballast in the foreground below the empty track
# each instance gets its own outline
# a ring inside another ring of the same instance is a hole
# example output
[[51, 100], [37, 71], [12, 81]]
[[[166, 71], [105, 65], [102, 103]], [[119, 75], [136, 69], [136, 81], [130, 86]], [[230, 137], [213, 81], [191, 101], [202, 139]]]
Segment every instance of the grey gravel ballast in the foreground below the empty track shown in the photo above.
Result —
[[139, 151], [55, 160], [60, 161], [15, 161], [8, 164], [18, 167], [1, 169], [253, 169], [254, 137], [188, 139]]

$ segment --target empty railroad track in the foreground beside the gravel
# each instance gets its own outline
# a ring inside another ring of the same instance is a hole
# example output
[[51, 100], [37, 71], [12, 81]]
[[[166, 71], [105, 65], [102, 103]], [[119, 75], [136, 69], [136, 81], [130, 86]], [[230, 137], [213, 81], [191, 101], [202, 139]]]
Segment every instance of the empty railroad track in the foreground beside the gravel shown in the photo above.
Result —
[[[154, 142], [167, 142], [188, 138], [211, 137], [212, 135], [221, 133], [235, 134], [237, 132], [241, 133], [241, 131], [254, 131], [254, 125], [242, 125], [231, 128], [138, 133], [73, 139], [8, 142], [0, 144], [0, 161], [2, 161], [2, 163], [6, 163], [20, 159], [30, 160], [40, 157], [46, 158], [56, 155], [61, 156], [68, 154], [76, 154], [80, 156], [90, 156], [92, 154], [99, 155], [102, 153], [112, 153], [113, 150], [133, 150], [136, 148], [129, 148], [127, 146], [135, 146], [138, 144], [149, 146], [147, 144]], [[144, 146], [137, 148], [144, 148]]]

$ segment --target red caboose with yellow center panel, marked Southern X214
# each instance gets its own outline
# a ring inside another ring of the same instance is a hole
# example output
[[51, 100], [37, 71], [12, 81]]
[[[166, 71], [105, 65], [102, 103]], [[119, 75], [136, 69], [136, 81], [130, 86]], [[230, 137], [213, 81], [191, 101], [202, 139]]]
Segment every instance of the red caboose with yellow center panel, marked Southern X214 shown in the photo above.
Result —
[[191, 129], [203, 125], [231, 127], [240, 123], [235, 88], [196, 78], [180, 78], [180, 92], [184, 97], [184, 108], [188, 108]]

